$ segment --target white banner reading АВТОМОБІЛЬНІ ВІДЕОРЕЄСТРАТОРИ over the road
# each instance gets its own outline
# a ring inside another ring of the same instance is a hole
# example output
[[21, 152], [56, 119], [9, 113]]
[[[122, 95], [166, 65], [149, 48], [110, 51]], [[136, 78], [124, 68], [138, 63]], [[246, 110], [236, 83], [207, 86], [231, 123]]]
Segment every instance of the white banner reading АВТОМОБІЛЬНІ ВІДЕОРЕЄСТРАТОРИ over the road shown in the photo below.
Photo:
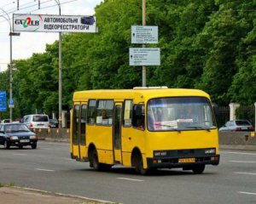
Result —
[[14, 14], [14, 31], [96, 32], [95, 16]]

